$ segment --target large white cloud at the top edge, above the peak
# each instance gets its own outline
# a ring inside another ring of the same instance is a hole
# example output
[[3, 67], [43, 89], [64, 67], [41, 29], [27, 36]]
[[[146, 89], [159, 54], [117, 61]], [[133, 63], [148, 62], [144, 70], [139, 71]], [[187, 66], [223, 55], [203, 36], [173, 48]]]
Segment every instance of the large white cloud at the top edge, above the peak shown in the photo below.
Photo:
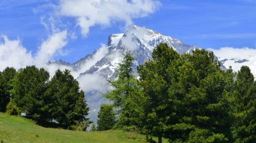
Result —
[[152, 0], [60, 0], [60, 15], [76, 18], [81, 33], [86, 36], [94, 25], [110, 26], [114, 21], [133, 24], [134, 18], [142, 18], [156, 11], [159, 1]]

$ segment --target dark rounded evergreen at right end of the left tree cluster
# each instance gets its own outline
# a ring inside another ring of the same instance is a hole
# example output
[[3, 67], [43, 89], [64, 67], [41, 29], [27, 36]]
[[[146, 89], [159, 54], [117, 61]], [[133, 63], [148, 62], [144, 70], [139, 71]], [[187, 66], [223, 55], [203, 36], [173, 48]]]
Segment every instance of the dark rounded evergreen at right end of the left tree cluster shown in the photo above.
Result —
[[70, 71], [57, 70], [47, 87], [43, 98], [48, 116], [70, 129], [86, 130], [91, 123], [86, 118], [89, 108]]

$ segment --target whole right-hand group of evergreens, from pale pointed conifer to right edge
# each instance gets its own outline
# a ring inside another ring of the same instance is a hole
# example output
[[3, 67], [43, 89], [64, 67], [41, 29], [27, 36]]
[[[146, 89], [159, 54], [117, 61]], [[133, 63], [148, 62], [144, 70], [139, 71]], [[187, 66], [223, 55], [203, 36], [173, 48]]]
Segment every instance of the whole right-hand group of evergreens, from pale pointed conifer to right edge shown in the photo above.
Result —
[[138, 85], [127, 80], [130, 57], [119, 64], [117, 80], [109, 81], [114, 90], [106, 98], [118, 107], [119, 124], [125, 127], [135, 116], [135, 126], [158, 142], [163, 136], [170, 142], [256, 140], [256, 81], [249, 67], [236, 75], [231, 67], [222, 71], [212, 52], [179, 55], [167, 44], [156, 46], [152, 58], [137, 67]]

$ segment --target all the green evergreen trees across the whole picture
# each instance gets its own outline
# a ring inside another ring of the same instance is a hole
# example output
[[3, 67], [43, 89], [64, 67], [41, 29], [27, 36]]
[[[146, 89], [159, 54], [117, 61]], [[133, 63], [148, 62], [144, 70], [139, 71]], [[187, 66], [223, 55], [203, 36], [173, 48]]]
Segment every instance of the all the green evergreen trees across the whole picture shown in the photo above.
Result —
[[213, 52], [180, 55], [167, 44], [156, 46], [137, 71], [133, 64], [131, 51], [123, 53], [115, 80], [108, 80], [113, 90], [103, 95], [112, 104], [101, 105], [97, 127], [86, 118], [84, 92], [68, 70], [50, 78], [43, 68], [7, 67], [0, 72], [0, 111], [65, 129], [86, 131], [92, 124], [91, 131], [138, 132], [148, 142], [154, 136], [159, 143], [256, 141], [256, 81], [249, 67], [221, 70]]

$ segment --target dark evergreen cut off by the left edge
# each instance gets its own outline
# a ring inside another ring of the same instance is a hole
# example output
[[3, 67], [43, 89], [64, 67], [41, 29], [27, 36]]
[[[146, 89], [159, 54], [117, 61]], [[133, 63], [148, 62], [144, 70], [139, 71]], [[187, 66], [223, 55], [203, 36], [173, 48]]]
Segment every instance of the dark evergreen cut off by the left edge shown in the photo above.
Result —
[[10, 102], [11, 81], [14, 79], [16, 70], [13, 67], [7, 67], [0, 72], [0, 111], [5, 112], [6, 106]]

